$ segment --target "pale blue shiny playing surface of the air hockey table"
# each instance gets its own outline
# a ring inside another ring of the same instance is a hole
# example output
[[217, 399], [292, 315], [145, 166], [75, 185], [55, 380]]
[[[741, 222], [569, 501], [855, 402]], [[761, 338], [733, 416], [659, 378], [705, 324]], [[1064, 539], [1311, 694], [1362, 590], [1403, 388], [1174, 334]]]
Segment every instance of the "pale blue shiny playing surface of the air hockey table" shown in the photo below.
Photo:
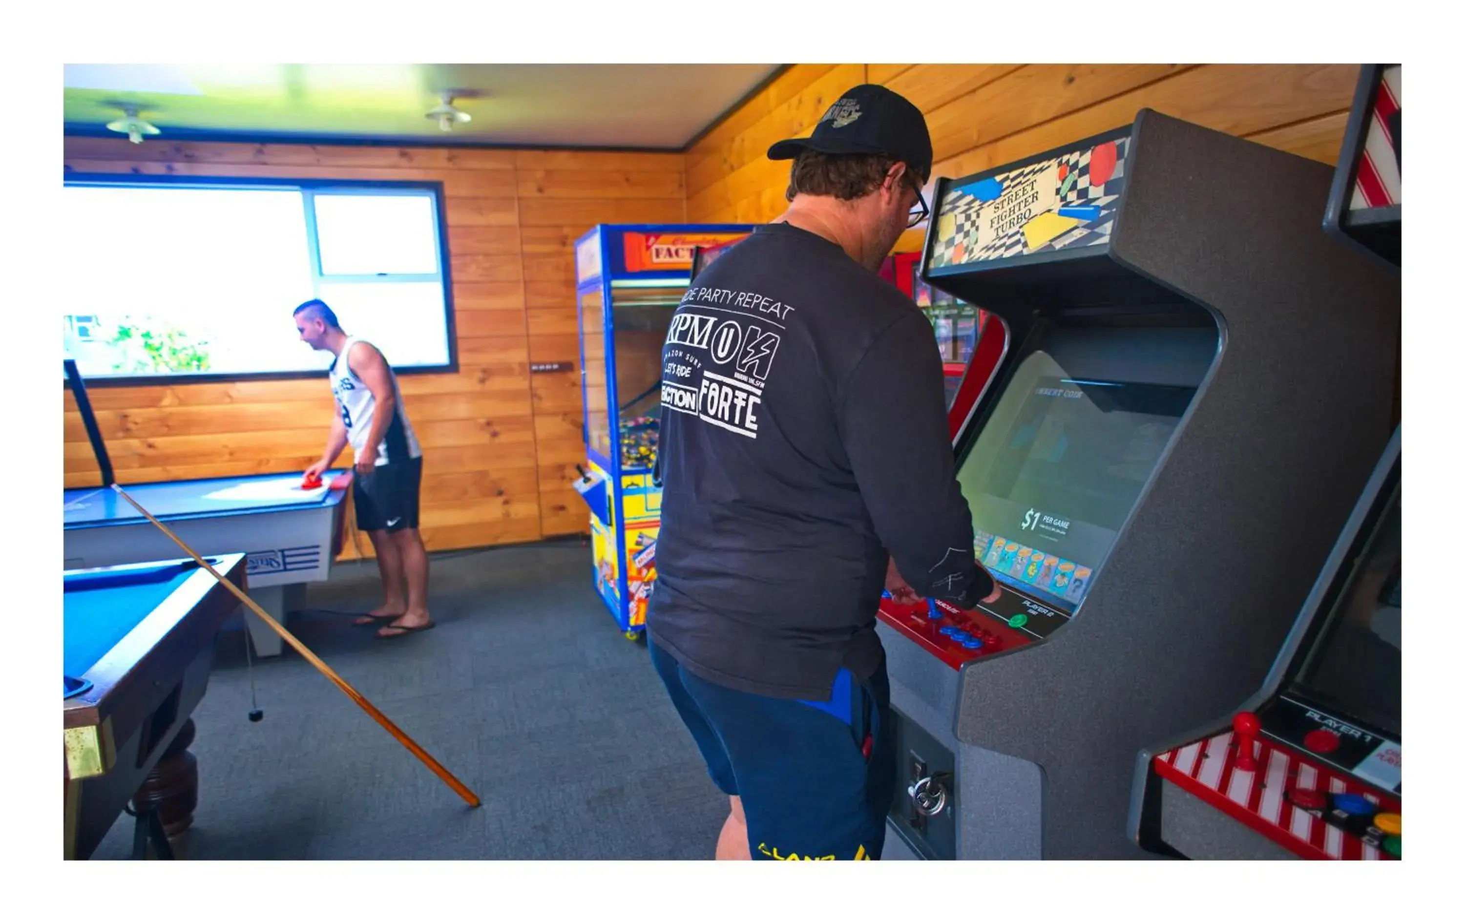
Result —
[[[252, 474], [211, 477], [193, 482], [123, 485], [132, 498], [158, 520], [229, 517], [262, 510], [308, 510], [340, 504], [344, 488], [334, 480], [341, 472], [328, 472], [322, 486], [300, 489], [302, 474]], [[69, 488], [63, 493], [66, 529], [146, 523], [138, 510], [111, 488]]]

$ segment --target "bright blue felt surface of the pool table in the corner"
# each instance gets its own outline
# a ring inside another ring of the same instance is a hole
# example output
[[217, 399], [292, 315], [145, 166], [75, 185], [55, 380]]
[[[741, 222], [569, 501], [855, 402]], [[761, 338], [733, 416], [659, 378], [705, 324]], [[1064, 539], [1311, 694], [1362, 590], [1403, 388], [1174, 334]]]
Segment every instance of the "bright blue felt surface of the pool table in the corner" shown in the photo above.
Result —
[[198, 574], [198, 564], [170, 562], [66, 575], [63, 595], [66, 677], [81, 678], [127, 633]]

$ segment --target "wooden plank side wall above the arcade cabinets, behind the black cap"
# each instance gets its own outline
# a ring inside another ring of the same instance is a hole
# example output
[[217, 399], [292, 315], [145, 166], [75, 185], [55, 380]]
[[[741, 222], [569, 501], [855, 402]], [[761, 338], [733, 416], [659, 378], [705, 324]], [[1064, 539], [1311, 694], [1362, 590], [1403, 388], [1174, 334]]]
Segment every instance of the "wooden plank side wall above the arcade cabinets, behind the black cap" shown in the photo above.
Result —
[[[1118, 127], [1144, 107], [1332, 164], [1357, 64], [795, 64], [687, 152], [689, 221], [769, 221], [788, 164], [839, 94], [882, 83], [926, 114], [935, 176], [960, 177]], [[901, 249], [919, 249], [924, 230]]]

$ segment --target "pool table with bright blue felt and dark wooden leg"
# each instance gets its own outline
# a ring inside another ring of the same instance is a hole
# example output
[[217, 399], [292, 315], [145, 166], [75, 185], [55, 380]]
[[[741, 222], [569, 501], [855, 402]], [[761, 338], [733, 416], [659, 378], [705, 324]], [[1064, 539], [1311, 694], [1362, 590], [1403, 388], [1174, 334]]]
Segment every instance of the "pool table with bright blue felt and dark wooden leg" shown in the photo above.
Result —
[[[243, 554], [209, 564], [248, 590]], [[64, 584], [66, 858], [89, 857], [129, 801], [139, 855], [144, 826], [173, 836], [193, 820], [190, 715], [240, 603], [192, 559], [66, 571]]]

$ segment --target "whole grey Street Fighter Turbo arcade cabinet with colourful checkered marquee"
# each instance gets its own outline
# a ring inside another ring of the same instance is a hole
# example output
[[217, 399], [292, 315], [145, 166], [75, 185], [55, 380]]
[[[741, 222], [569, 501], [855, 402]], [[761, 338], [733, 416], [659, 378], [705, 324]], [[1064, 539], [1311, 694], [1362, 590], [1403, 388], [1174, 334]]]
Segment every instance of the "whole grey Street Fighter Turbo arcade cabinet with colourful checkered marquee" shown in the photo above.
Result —
[[1143, 110], [941, 180], [924, 277], [1005, 334], [955, 439], [1002, 596], [882, 602], [888, 857], [1144, 857], [1134, 756], [1261, 685], [1390, 429], [1398, 277], [1329, 174]]

